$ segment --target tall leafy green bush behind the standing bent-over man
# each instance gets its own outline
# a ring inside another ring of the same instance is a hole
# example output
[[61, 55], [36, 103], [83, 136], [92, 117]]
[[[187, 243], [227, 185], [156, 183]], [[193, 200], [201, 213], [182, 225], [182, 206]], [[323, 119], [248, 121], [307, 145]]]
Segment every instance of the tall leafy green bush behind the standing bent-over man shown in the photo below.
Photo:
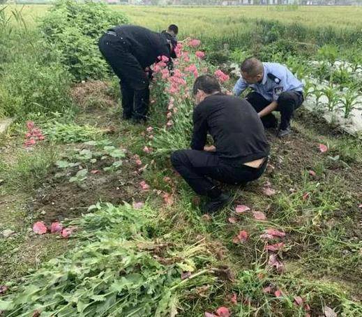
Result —
[[47, 42], [61, 52], [61, 60], [75, 80], [103, 78], [107, 64], [98, 50], [98, 38], [128, 19], [105, 3], [59, 1], [43, 19], [40, 29]]

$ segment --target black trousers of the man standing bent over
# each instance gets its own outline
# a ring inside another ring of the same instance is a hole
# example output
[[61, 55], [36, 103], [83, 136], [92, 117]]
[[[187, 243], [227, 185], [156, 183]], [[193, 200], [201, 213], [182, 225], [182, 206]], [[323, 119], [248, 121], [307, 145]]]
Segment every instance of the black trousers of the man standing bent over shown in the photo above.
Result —
[[149, 78], [121, 36], [104, 34], [98, 47], [119, 78], [123, 118], [146, 119], [149, 111]]

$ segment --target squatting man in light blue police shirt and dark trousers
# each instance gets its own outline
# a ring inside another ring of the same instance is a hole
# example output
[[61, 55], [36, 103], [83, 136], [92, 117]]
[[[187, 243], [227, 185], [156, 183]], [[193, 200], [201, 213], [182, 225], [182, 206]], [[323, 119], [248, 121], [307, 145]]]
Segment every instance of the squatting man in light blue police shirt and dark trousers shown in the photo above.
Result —
[[276, 128], [278, 121], [272, 114], [280, 112], [278, 136], [281, 138], [290, 131], [290, 120], [294, 110], [303, 103], [303, 84], [289, 71], [277, 63], [262, 63], [250, 57], [241, 64], [241, 78], [234, 87], [235, 96], [246, 88], [252, 92], [246, 100], [258, 112], [265, 128]]

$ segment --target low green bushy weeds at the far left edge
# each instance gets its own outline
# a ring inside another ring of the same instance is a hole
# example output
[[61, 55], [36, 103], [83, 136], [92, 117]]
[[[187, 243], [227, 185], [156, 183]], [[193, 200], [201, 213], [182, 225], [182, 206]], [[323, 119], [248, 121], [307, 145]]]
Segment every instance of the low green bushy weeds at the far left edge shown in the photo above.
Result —
[[70, 84], [70, 74], [56, 62], [8, 64], [0, 82], [0, 113], [24, 118], [31, 112], [62, 112], [72, 105]]

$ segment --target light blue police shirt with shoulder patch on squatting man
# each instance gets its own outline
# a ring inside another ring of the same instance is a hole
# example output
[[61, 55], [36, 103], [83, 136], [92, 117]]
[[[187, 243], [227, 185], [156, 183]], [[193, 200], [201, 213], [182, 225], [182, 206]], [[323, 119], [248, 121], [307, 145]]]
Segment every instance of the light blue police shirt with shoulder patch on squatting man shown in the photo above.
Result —
[[303, 84], [292, 74], [289, 69], [278, 63], [263, 63], [264, 76], [262, 82], [248, 84], [241, 77], [234, 86], [235, 96], [248, 87], [261, 94], [268, 101], [278, 101], [284, 91], [303, 91]]

